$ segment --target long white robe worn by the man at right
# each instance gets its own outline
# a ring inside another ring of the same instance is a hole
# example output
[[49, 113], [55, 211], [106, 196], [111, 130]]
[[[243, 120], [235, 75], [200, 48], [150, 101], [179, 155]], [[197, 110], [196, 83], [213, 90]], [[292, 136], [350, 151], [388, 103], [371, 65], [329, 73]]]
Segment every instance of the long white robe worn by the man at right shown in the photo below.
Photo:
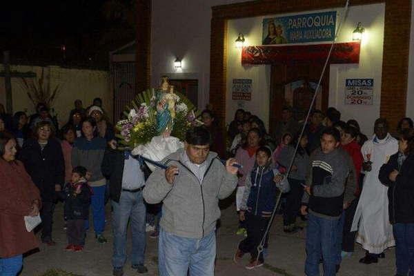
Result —
[[358, 231], [356, 242], [369, 253], [380, 254], [386, 248], [395, 246], [393, 227], [388, 217], [388, 187], [380, 182], [378, 174], [381, 166], [397, 150], [398, 141], [389, 133], [382, 140], [374, 135], [361, 148], [364, 161], [372, 162], [372, 170], [366, 172], [351, 230]]

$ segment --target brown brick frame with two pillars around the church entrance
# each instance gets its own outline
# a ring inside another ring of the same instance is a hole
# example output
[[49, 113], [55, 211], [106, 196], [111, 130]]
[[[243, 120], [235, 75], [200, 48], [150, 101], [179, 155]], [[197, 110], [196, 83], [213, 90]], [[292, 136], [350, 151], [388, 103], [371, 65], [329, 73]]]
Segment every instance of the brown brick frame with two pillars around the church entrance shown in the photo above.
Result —
[[[249, 1], [213, 7], [210, 48], [210, 103], [220, 121], [226, 118], [226, 21], [268, 14], [303, 12], [344, 7], [345, 0]], [[411, 0], [353, 0], [350, 5], [386, 3], [382, 95], [380, 113], [395, 129], [405, 117], [408, 81], [408, 55], [411, 26]], [[220, 93], [222, 95], [220, 95]]]

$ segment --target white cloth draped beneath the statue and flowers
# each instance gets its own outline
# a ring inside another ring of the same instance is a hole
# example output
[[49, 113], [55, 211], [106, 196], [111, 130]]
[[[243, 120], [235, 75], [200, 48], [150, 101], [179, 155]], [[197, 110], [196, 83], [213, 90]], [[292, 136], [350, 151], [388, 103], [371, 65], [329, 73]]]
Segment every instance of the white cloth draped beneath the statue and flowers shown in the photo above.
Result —
[[[184, 143], [179, 141], [176, 137], [162, 137], [156, 136], [151, 139], [148, 144], [139, 145], [132, 150], [132, 155], [142, 155], [152, 161], [161, 161], [179, 148], [184, 148]], [[148, 164], [150, 170], [155, 170], [155, 167]]]

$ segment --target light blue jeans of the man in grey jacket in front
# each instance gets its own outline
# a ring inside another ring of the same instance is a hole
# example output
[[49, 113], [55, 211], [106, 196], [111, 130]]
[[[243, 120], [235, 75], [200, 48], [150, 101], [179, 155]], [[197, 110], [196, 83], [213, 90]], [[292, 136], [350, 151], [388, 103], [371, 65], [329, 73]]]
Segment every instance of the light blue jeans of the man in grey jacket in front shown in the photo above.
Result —
[[159, 276], [213, 276], [215, 255], [215, 231], [201, 239], [191, 239], [167, 233], [161, 226], [158, 241]]

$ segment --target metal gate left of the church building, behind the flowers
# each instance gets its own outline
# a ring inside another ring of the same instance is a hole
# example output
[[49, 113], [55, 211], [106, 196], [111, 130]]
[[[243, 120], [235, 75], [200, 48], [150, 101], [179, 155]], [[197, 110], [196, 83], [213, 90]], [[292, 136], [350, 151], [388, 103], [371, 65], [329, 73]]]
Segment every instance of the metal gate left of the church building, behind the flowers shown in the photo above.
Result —
[[114, 95], [114, 121], [121, 119], [127, 105], [135, 99], [135, 62], [112, 62], [110, 66], [111, 84]]

